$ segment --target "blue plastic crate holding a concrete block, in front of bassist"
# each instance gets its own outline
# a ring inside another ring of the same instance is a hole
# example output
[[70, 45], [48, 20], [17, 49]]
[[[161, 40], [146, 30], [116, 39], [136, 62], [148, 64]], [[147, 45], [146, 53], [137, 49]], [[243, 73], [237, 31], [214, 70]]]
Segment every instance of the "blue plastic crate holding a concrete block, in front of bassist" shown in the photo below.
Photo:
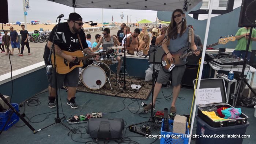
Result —
[[[173, 133], [173, 120], [169, 120], [169, 128], [171, 132], [165, 132], [163, 131], [163, 128], [165, 128], [164, 123], [162, 122], [162, 128], [161, 128], [161, 135], [165, 135], [165, 137], [162, 137], [160, 140], [160, 144], [188, 144], [189, 138], [189, 132], [188, 132], [188, 122], [186, 126], [186, 134], [180, 134], [180, 133]], [[169, 134], [169, 138], [166, 137], [166, 135]], [[186, 137], [187, 135], [187, 137]], [[179, 138], [174, 138], [172, 136], [179, 136]], [[181, 136], [181, 137], [180, 137]]]

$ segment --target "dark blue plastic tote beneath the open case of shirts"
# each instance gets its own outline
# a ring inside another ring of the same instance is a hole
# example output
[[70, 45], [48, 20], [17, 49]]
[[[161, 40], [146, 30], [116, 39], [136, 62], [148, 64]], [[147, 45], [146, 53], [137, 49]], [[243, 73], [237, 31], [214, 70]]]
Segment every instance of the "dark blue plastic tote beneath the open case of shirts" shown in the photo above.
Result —
[[[204, 122], [198, 115], [196, 117], [196, 144], [242, 144], [246, 128], [249, 126], [247, 121], [244, 125], [233, 125], [221, 128], [214, 128]], [[208, 137], [208, 138], [207, 138]]]

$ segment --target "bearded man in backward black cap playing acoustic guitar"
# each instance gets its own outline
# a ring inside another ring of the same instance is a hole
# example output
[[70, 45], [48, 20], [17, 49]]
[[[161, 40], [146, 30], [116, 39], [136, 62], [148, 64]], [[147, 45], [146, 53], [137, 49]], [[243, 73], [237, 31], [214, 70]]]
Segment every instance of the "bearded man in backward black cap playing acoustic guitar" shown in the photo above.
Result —
[[[58, 29], [56, 31], [57, 25], [53, 28], [52, 32], [49, 36], [49, 41], [45, 45], [44, 52], [44, 60], [47, 65], [50, 49], [52, 47], [54, 32], [62, 32], [65, 35], [66, 43], [54, 41], [55, 53], [67, 60], [67, 62], [74, 62], [76, 57], [74, 55], [68, 55], [64, 53], [67, 52], [75, 52], [77, 50], [83, 50], [84, 53], [93, 55], [94, 53], [88, 48], [88, 45], [84, 39], [86, 36], [84, 32], [81, 30], [83, 26], [83, 19], [81, 16], [75, 12], [70, 13], [68, 17], [68, 22], [60, 23]], [[82, 40], [82, 41], [81, 41]], [[64, 51], [63, 51], [64, 50]], [[82, 53], [82, 52], [81, 52]], [[98, 55], [96, 55], [95, 60], [98, 60]], [[52, 59], [53, 61], [53, 59]], [[56, 62], [57, 63], [57, 62]], [[59, 69], [57, 65], [57, 69]], [[71, 108], [76, 109], [78, 105], [75, 103], [75, 93], [76, 87], [78, 86], [78, 78], [79, 77], [79, 69], [78, 67], [74, 68], [72, 71], [66, 74], [59, 74], [57, 72], [57, 88], [61, 88], [63, 83], [68, 87], [68, 98], [67, 104], [70, 105]], [[50, 108], [56, 107], [55, 96], [56, 96], [56, 88], [55, 88], [55, 76], [54, 74], [48, 75], [49, 81], [49, 103], [48, 106]]]

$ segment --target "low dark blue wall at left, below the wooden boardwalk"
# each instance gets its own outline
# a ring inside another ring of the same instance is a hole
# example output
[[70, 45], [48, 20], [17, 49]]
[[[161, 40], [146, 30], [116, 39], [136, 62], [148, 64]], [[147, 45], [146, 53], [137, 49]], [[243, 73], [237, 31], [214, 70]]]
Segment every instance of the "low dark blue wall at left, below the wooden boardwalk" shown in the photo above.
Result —
[[[29, 73], [25, 76], [13, 80], [12, 103], [21, 103], [35, 94], [48, 88], [47, 75], [45, 68]], [[12, 82], [0, 85], [0, 92], [3, 95], [11, 96]]]

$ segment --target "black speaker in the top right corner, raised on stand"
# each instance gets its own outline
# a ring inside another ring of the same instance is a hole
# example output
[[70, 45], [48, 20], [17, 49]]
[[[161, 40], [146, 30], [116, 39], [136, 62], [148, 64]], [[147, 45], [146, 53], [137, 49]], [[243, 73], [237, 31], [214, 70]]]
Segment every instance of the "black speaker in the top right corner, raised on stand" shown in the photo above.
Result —
[[256, 0], [242, 0], [239, 27], [256, 27]]

